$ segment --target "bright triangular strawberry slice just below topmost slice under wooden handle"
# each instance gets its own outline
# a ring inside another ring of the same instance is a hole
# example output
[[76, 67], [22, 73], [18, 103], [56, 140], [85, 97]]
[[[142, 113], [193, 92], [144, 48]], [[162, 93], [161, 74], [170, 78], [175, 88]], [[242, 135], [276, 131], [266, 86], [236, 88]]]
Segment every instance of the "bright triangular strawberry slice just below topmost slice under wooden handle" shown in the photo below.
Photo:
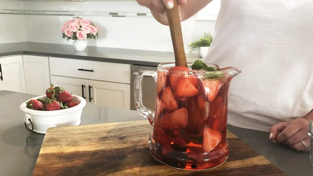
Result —
[[198, 89], [192, 85], [189, 78], [179, 78], [177, 80], [176, 95], [179, 97], [192, 97], [198, 94]]

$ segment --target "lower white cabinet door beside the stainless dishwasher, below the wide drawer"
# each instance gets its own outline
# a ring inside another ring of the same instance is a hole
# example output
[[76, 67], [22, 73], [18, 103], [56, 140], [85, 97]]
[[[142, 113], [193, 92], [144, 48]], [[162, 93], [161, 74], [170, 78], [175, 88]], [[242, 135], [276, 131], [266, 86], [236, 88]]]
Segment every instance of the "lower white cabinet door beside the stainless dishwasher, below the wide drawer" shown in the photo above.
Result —
[[[92, 104], [131, 109], [131, 85], [88, 80]], [[87, 99], [89, 101], [89, 99]]]

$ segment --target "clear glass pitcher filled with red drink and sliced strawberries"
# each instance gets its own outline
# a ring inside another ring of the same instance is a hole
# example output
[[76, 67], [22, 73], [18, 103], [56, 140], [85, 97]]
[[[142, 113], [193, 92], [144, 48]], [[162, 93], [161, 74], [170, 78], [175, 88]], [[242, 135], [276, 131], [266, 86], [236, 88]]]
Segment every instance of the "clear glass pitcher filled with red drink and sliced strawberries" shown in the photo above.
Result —
[[[228, 158], [226, 140], [228, 89], [241, 71], [175, 67], [162, 63], [158, 71], [140, 71], [135, 78], [136, 110], [146, 117], [153, 132], [149, 137], [151, 155], [163, 164], [183, 170], [205, 170], [222, 165]], [[156, 81], [155, 109], [142, 104], [142, 78]]]

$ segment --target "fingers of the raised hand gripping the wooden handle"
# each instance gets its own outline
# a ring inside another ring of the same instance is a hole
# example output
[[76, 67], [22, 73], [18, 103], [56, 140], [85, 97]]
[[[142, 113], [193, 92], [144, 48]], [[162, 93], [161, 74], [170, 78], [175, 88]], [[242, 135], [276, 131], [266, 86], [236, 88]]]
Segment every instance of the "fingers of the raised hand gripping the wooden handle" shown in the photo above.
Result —
[[[172, 9], [174, 6], [173, 0], [136, 0], [138, 4], [150, 8], [151, 11], [165, 13], [166, 8]], [[177, 0], [179, 5], [185, 5], [187, 0]]]

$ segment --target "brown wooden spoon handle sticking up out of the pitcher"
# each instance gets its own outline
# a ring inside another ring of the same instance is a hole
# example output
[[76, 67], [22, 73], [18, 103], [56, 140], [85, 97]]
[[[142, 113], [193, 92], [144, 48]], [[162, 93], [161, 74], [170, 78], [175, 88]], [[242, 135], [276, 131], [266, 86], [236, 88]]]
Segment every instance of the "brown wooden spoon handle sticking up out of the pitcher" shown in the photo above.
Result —
[[174, 7], [170, 10], [167, 9], [166, 14], [172, 36], [172, 43], [175, 54], [175, 66], [187, 67], [184, 43], [182, 40], [182, 26], [179, 17], [178, 3], [177, 0], [173, 1]]

